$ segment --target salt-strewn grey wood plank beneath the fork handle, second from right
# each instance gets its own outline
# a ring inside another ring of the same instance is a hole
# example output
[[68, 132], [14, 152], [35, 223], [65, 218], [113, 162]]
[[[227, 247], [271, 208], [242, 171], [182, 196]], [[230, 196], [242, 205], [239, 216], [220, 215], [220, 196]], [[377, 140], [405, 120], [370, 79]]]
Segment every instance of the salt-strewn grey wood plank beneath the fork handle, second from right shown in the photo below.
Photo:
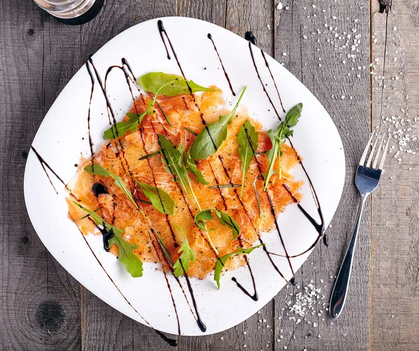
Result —
[[[318, 244], [297, 272], [297, 286], [282, 290], [275, 299], [275, 346], [277, 350], [284, 350], [284, 346], [288, 350], [368, 350], [368, 209], [361, 225], [346, 308], [335, 321], [325, 308], [358, 211], [353, 177], [370, 129], [369, 2], [283, 3], [284, 8], [275, 11], [275, 58], [311, 90], [335, 121], [346, 154], [346, 181], [332, 227], [327, 230], [329, 247]], [[360, 43], [351, 51], [358, 33], [361, 33]], [[347, 38], [348, 35], [351, 38]], [[348, 54], [356, 55], [355, 62]], [[286, 301], [294, 304], [295, 294], [304, 294], [304, 286], [308, 284], [321, 288], [319, 294], [325, 297], [317, 299], [314, 315], [310, 311], [304, 320], [289, 312]], [[293, 317], [300, 318], [301, 322], [297, 324], [289, 319]]]

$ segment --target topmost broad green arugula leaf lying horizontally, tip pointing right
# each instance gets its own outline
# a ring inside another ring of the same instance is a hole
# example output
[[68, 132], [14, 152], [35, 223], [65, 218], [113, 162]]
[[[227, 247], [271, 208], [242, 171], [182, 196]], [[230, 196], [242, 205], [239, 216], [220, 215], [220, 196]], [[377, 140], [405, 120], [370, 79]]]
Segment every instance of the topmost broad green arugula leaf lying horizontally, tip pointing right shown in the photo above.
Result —
[[[169, 82], [170, 84], [168, 84]], [[149, 91], [153, 94], [156, 94], [161, 87], [167, 84], [160, 94], [168, 97], [190, 94], [191, 92], [196, 93], [198, 91], [214, 91], [214, 89], [201, 87], [192, 80], [185, 80], [184, 77], [179, 77], [179, 75], [170, 75], [163, 72], [147, 73], [138, 78], [138, 84], [140, 84], [145, 91]]]

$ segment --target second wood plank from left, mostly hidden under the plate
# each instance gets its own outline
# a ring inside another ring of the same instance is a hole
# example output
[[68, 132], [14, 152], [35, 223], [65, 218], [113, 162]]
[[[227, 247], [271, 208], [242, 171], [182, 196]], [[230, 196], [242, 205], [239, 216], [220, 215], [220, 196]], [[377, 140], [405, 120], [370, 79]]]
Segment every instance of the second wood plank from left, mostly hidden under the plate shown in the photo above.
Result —
[[[128, 27], [154, 17], [176, 15], [176, 11], [175, 0], [107, 1], [94, 20], [80, 27], [80, 66]], [[122, 315], [84, 287], [81, 289], [83, 350], [174, 350], [149, 327]]]

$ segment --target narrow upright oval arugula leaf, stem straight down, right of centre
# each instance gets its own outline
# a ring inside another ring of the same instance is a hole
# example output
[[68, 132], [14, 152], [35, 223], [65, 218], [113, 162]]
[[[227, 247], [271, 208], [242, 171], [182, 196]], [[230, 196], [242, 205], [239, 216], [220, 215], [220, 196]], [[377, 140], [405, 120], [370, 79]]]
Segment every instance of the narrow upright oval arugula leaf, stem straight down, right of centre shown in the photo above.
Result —
[[242, 163], [242, 193], [244, 189], [244, 179], [246, 174], [249, 172], [251, 160], [255, 156], [255, 152], [258, 149], [258, 137], [259, 133], [251, 125], [249, 120], [244, 121], [244, 124], [240, 127], [239, 133], [237, 133], [237, 143], [239, 144], [239, 157]]

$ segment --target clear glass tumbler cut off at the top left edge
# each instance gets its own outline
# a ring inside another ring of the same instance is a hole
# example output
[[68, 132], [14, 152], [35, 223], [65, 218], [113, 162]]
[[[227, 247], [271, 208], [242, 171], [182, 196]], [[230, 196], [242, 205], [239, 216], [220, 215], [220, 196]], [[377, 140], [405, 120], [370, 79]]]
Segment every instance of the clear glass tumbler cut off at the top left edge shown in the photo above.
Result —
[[67, 24], [82, 24], [94, 18], [104, 0], [34, 0], [36, 5]]

